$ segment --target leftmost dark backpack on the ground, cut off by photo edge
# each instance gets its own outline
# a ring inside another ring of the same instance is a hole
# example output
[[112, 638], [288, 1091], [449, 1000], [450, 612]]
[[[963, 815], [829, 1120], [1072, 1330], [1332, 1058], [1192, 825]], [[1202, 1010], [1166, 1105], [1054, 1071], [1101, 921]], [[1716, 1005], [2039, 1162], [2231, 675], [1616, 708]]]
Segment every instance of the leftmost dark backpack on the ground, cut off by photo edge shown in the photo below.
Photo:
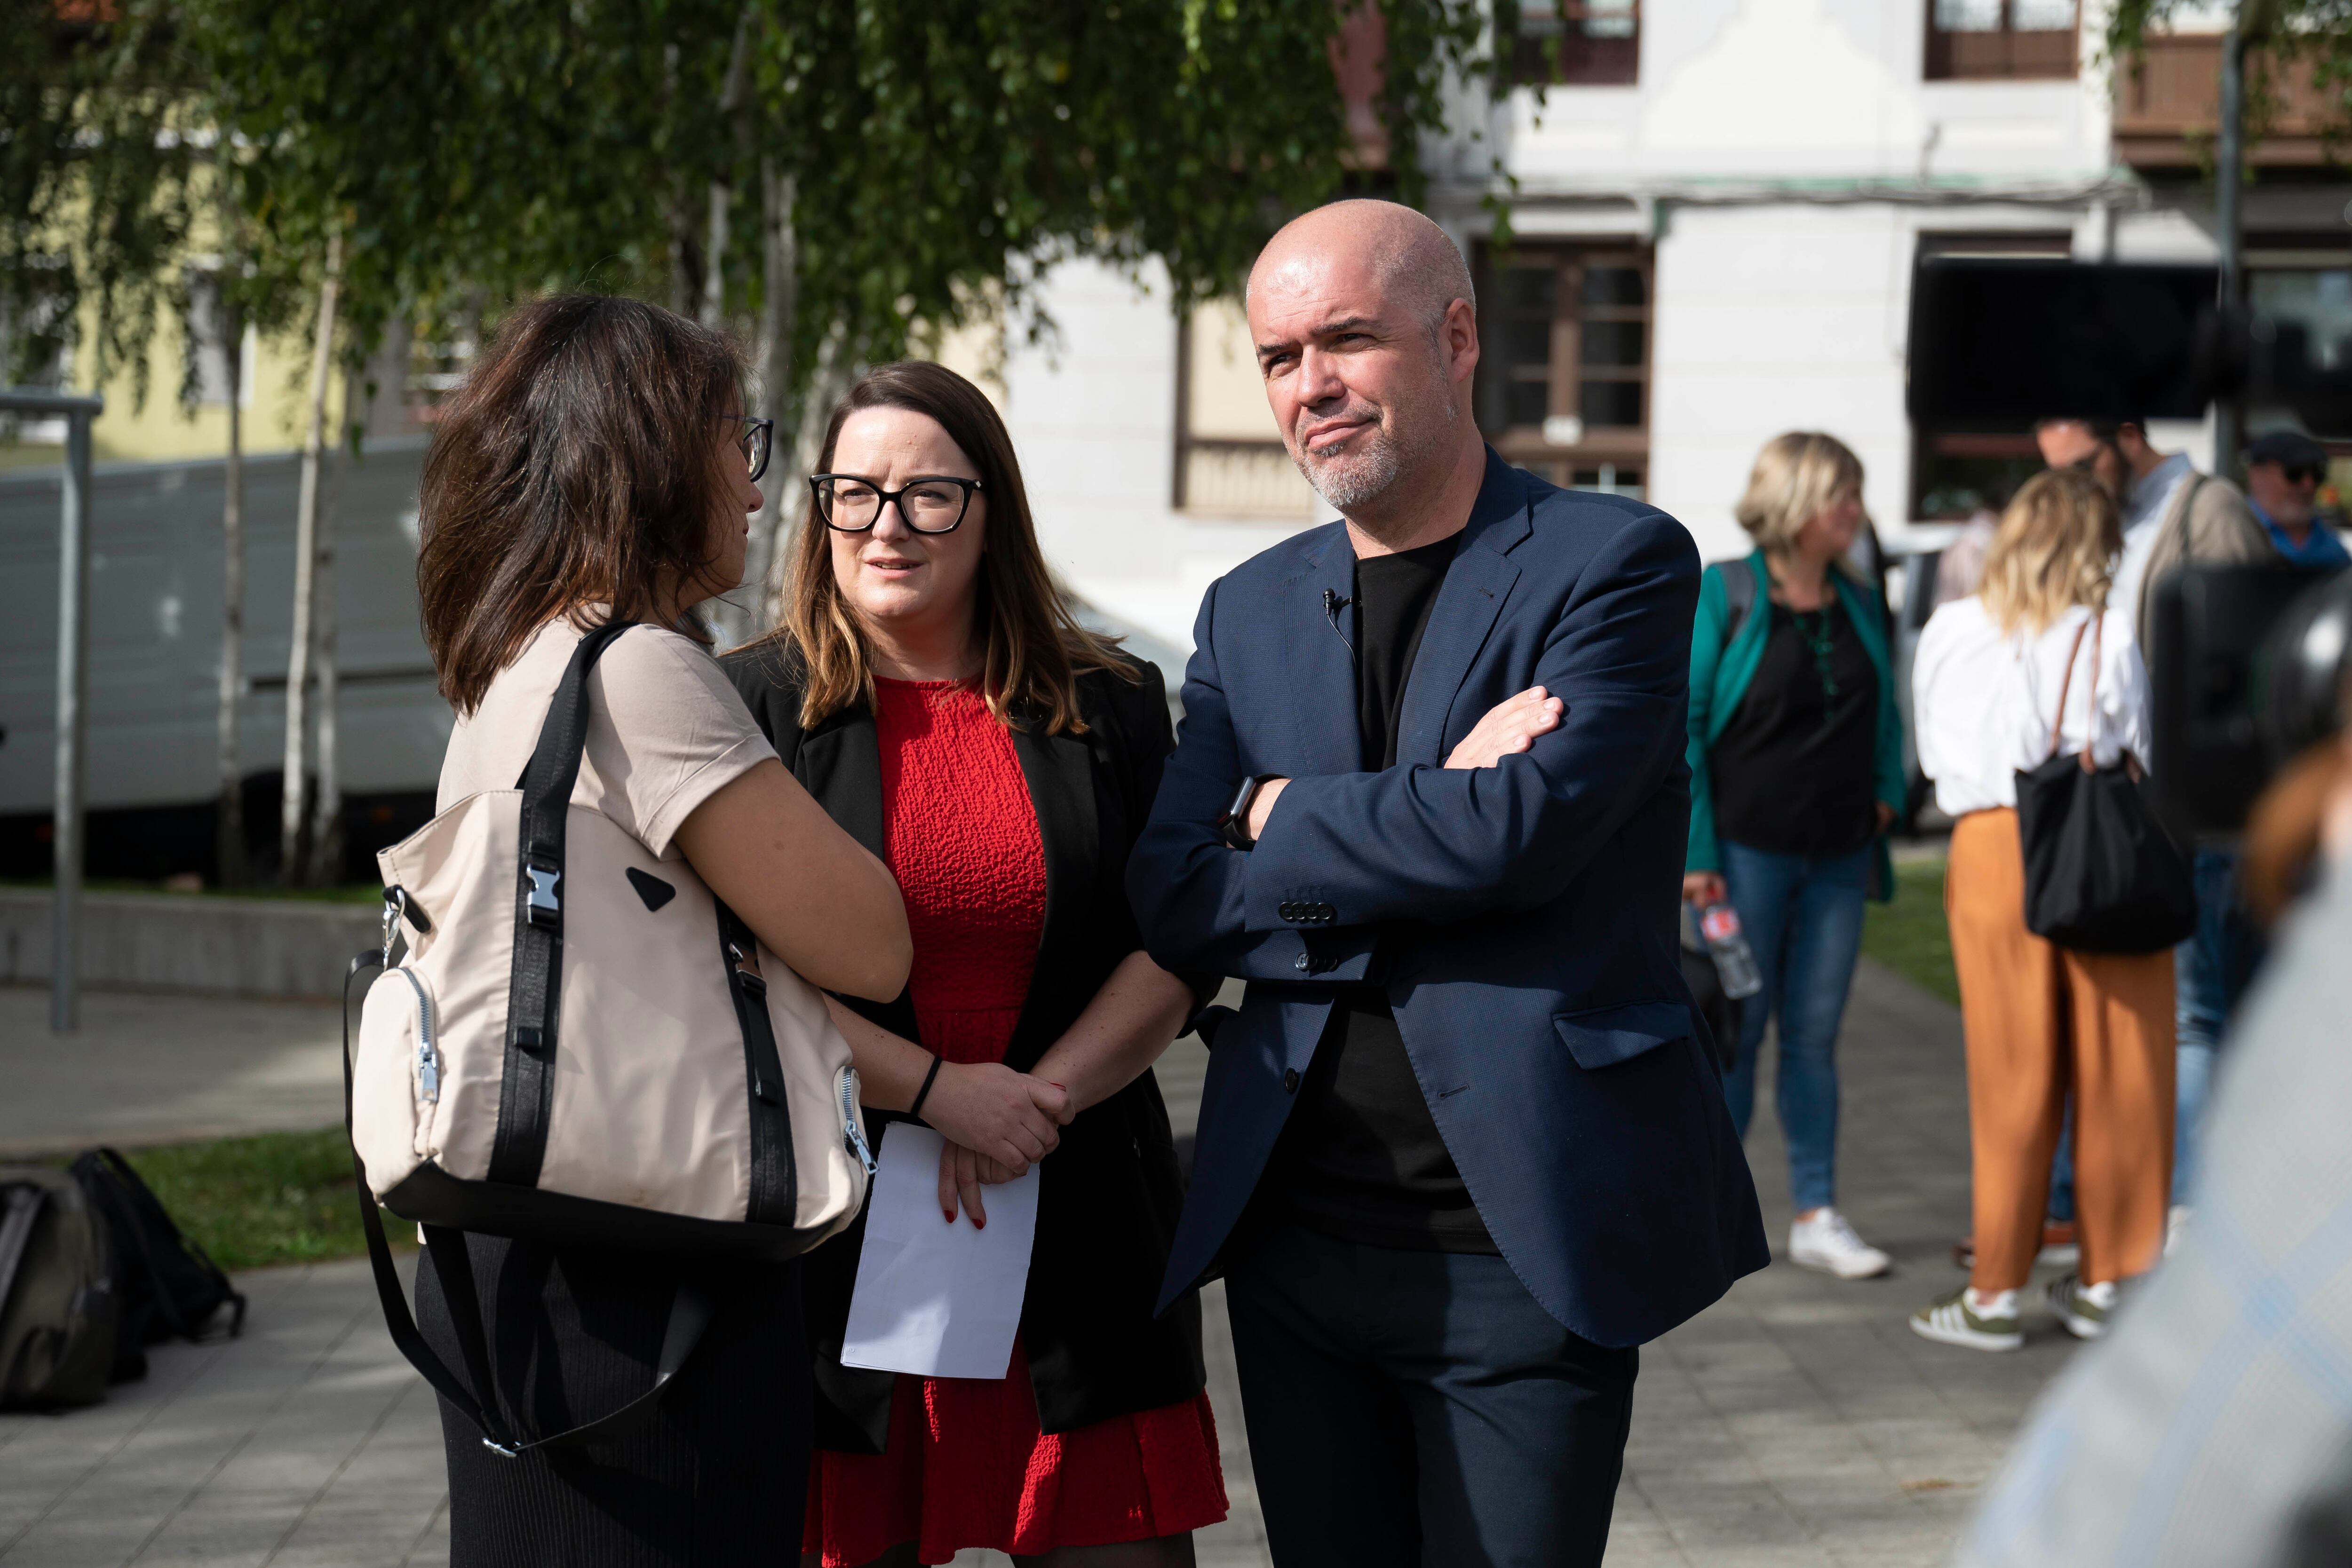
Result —
[[118, 1307], [106, 1220], [80, 1182], [0, 1168], [0, 1410], [103, 1399]]

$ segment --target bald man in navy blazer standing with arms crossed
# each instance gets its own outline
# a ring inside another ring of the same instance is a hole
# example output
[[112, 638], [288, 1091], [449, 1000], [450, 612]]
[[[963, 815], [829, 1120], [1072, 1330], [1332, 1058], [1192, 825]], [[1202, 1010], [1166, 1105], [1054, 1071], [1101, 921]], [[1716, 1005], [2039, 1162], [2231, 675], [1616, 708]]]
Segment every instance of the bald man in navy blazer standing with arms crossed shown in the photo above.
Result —
[[1635, 1347], [1766, 1262], [1682, 985], [1698, 552], [1477, 433], [1477, 306], [1338, 202], [1249, 277], [1341, 522], [1216, 581], [1127, 889], [1240, 976], [1162, 1305], [1223, 1272], [1279, 1568], [1597, 1563]]

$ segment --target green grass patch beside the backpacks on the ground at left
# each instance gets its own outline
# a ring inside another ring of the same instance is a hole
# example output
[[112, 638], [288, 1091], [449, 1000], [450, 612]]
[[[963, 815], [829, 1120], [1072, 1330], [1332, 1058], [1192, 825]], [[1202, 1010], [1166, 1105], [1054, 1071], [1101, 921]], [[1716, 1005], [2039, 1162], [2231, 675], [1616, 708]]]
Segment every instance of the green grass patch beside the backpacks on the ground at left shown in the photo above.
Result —
[[[343, 1128], [259, 1133], [129, 1150], [179, 1227], [223, 1269], [325, 1262], [367, 1251], [350, 1187]], [[393, 1251], [416, 1248], [416, 1227], [383, 1215]]]

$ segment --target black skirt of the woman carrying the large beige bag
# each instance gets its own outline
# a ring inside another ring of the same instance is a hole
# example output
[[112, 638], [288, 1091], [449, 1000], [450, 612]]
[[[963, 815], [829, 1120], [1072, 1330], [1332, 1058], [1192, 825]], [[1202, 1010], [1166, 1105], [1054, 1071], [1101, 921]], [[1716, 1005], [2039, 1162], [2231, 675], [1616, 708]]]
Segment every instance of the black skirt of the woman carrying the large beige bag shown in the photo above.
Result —
[[[593, 1420], [654, 1380], [675, 1274], [468, 1237], [499, 1399], [524, 1432]], [[508, 1460], [442, 1401], [452, 1568], [793, 1563], [809, 1493], [800, 1265], [706, 1276], [713, 1316], [659, 1408], [609, 1441]], [[461, 1368], [433, 1248], [416, 1321]]]

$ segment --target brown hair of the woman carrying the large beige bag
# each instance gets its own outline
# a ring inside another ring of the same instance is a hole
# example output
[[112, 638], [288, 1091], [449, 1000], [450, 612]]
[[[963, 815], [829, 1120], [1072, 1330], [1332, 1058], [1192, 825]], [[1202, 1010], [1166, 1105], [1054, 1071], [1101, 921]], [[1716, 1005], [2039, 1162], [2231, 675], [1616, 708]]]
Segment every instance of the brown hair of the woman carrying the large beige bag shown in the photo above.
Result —
[[682, 315], [588, 294], [508, 313], [442, 404], [416, 496], [426, 649], [461, 715], [555, 616], [647, 621], [677, 583], [734, 588], [703, 574], [741, 407], [734, 343]]

